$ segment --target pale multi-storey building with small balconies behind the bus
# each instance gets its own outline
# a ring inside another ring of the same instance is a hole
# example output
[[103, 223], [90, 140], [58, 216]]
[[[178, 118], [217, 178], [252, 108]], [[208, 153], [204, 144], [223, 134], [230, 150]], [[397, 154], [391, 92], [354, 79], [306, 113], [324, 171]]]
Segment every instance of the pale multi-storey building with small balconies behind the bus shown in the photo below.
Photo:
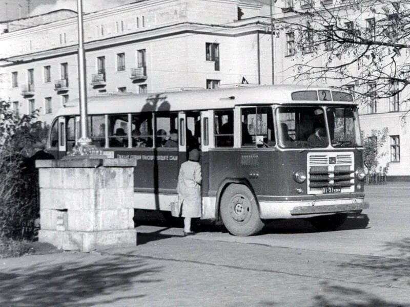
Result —
[[[335, 8], [345, 2], [311, 5]], [[305, 0], [278, 0], [272, 8], [276, 27], [297, 17], [289, 8], [309, 6]], [[368, 16], [362, 17], [365, 22]], [[0, 50], [0, 97], [22, 113], [40, 109], [40, 119], [49, 123], [59, 107], [78, 97], [77, 18], [70, 10], [32, 18], [35, 23], [20, 20], [14, 23], [18, 28], [0, 35], [5, 46]], [[294, 36], [273, 33], [270, 25], [270, 7], [250, 0], [146, 0], [85, 14], [87, 94], [271, 84], [272, 79], [310, 84], [294, 80], [295, 63], [309, 57], [294, 52]], [[402, 121], [407, 105], [400, 97], [376, 101], [370, 108], [359, 103], [366, 136], [372, 129], [388, 128], [380, 166], [388, 165], [392, 178], [410, 176], [408, 124]]]

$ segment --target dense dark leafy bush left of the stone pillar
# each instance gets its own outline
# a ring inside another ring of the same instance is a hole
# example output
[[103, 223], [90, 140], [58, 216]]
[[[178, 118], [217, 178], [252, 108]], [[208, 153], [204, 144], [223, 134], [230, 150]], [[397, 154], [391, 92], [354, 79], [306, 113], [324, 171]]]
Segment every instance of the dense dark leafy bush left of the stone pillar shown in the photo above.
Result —
[[0, 101], [0, 238], [33, 239], [39, 216], [38, 175], [24, 170], [31, 145], [47, 135], [38, 111], [18, 116]]

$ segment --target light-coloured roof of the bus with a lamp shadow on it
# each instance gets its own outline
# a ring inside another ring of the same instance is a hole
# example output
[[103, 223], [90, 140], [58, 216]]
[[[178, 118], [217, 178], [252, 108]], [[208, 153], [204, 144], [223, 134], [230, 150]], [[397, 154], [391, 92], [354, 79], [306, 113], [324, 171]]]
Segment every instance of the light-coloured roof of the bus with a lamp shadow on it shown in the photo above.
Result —
[[[233, 108], [257, 104], [355, 104], [352, 101], [292, 100], [292, 93], [336, 91], [330, 87], [305, 85], [256, 85], [224, 87], [213, 90], [161, 92], [153, 94], [104, 94], [87, 98], [88, 114], [194, 111]], [[329, 92], [330, 93], [330, 92]], [[346, 92], [347, 93], [347, 92]], [[309, 95], [308, 95], [309, 96]], [[79, 114], [79, 99], [59, 108], [56, 116]]]

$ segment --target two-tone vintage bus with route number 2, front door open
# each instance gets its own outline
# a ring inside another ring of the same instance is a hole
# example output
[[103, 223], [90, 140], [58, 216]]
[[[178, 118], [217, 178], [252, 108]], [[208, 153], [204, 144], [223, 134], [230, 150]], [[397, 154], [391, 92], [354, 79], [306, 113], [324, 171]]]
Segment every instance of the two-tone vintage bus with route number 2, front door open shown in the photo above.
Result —
[[[265, 221], [306, 218], [336, 229], [364, 202], [363, 148], [350, 93], [294, 85], [233, 86], [88, 98], [92, 143], [107, 158], [133, 158], [134, 207], [169, 211], [178, 170], [201, 151], [202, 217], [234, 235]], [[51, 124], [60, 159], [79, 137], [78, 100]]]

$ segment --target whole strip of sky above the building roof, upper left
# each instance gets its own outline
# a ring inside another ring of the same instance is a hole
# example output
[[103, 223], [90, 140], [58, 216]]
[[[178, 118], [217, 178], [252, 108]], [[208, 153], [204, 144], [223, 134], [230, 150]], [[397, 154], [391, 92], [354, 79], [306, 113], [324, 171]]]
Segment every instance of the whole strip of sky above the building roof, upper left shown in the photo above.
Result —
[[[130, 2], [135, 0], [83, 0], [83, 10], [94, 12]], [[31, 16], [59, 9], [77, 10], [77, 0], [0, 0], [0, 20], [27, 17], [29, 4]]]

